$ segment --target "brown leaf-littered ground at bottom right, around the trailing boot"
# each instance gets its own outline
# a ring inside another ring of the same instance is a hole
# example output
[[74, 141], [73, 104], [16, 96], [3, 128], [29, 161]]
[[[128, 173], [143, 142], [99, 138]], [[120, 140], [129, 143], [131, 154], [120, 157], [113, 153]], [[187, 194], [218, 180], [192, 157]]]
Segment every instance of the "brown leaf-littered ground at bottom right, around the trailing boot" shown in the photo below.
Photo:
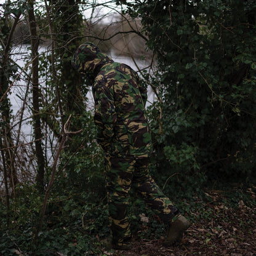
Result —
[[[160, 239], [132, 240], [132, 250], [106, 250], [102, 255], [111, 256], [256, 256], [256, 194], [255, 187], [248, 188], [251, 202], [239, 201], [236, 207], [223, 204], [222, 191], [210, 191], [212, 202], [204, 208], [212, 214], [204, 216], [201, 209], [194, 213], [197, 221], [185, 232], [182, 241], [176, 246], [164, 247]], [[202, 207], [203, 208], [203, 207]]]

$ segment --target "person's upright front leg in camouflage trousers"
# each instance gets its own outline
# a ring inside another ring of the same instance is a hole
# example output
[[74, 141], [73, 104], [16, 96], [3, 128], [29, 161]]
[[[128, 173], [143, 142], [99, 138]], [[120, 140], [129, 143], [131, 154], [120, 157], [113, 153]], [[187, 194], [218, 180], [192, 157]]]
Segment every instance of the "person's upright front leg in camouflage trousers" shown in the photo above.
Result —
[[134, 174], [134, 160], [106, 157], [105, 169], [111, 239], [113, 244], [122, 244], [131, 237], [127, 204]]

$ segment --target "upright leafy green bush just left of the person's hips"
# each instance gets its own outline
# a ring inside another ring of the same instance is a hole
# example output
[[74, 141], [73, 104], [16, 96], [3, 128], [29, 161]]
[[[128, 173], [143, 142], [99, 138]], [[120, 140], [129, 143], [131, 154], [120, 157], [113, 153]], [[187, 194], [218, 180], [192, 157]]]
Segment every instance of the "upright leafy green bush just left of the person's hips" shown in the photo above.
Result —
[[98, 197], [105, 196], [103, 152], [95, 140], [97, 127], [92, 113], [87, 111], [82, 116], [76, 116], [73, 123], [79, 123], [82, 132], [71, 135], [69, 146], [61, 155], [59, 169], [62, 175], [55, 183], [56, 190], [62, 186], [75, 193], [87, 190], [95, 191]]

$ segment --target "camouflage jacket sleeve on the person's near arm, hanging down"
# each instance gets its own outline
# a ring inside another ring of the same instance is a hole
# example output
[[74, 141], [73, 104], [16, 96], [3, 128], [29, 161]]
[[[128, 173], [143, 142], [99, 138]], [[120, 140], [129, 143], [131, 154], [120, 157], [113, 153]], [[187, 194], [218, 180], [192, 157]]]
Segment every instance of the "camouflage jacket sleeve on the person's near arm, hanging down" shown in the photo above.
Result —
[[106, 150], [114, 135], [116, 110], [113, 87], [108, 83], [96, 82], [94, 85], [95, 114], [94, 122], [98, 127], [97, 141]]

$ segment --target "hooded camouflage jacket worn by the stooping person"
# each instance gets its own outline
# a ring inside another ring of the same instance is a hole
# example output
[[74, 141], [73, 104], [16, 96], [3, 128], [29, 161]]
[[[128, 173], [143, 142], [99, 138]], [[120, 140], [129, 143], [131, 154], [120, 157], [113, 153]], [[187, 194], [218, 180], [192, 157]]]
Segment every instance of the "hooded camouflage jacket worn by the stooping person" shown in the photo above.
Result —
[[145, 114], [147, 91], [138, 74], [113, 62], [92, 43], [82, 44], [71, 62], [80, 73], [94, 79], [94, 122], [103, 150], [116, 157], [148, 157], [152, 143]]

